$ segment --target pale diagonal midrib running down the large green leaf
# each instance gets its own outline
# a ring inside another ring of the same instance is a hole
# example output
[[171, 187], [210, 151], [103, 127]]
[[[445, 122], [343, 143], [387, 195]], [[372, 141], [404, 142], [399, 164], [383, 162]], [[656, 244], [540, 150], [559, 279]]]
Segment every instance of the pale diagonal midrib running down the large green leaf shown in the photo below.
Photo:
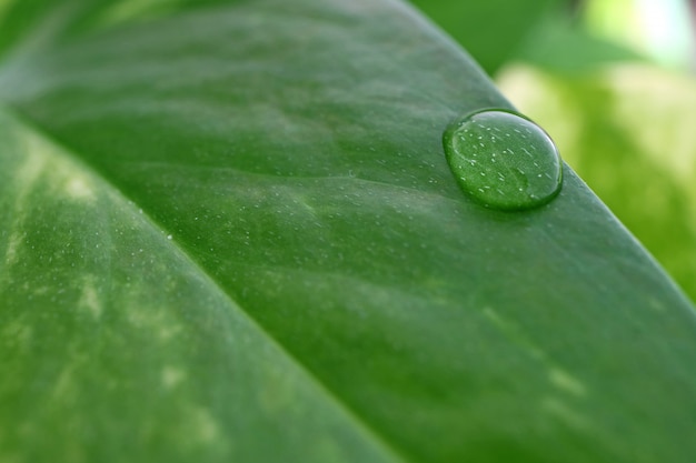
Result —
[[[179, 245], [176, 240], [167, 239], [167, 235], [170, 234], [170, 231], [158, 221], [152, 219], [145, 207], [140, 207], [140, 204], [135, 199], [129, 197], [116, 183], [110, 181], [108, 177], [103, 175], [98, 170], [86, 163], [82, 160], [82, 157], [80, 157], [80, 154], [74, 149], [58, 141], [50, 133], [43, 131], [39, 124], [30, 121], [11, 105], [0, 101], [0, 112], [4, 112], [6, 114], [14, 119], [14, 121], [23, 129], [31, 132], [51, 147], [54, 147], [56, 150], [52, 150], [50, 152], [50, 155], [58, 158], [57, 161], [61, 163], [68, 162], [73, 167], [80, 169], [83, 174], [96, 180], [98, 184], [101, 185], [101, 188], [113, 193], [115, 198], [122, 202], [125, 204], [125, 208], [127, 210], [130, 210], [133, 217], [139, 217], [148, 228], [157, 231], [158, 233], [156, 234], [159, 236], [159, 240], [161, 240], [166, 246], [169, 246], [172, 253], [179, 254], [187, 263], [187, 265], [189, 265], [193, 270], [193, 272], [198, 273], [201, 276], [201, 281], [210, 285], [212, 291], [220, 293], [229, 303], [231, 309], [237, 310], [238, 313], [246, 318], [247, 321], [259, 331], [261, 336], [268, 343], [270, 343], [278, 350], [278, 352], [285, 355], [289, 360], [289, 362], [294, 364], [304, 374], [305, 378], [308, 379], [308, 381], [317, 386], [318, 390], [322, 391], [329, 403], [336, 406], [339, 413], [342, 413], [350, 422], [352, 422], [356, 427], [361, 432], [361, 434], [366, 436], [366, 439], [371, 440], [378, 449], [381, 449], [388, 459], [401, 463], [417, 463], [416, 460], [405, 456], [401, 450], [395, 443], [390, 442], [384, 434], [379, 433], [376, 427], [374, 427], [368, 421], [366, 421], [346, 401], [344, 401], [335, 390], [332, 390], [327, 383], [321, 381], [321, 379], [317, 376], [305, 362], [294, 355], [292, 352], [288, 348], [286, 348], [286, 345], [284, 345], [276, 336], [274, 336], [259, 320], [257, 320], [247, 310], [245, 310], [245, 308], [235, 300], [230, 292], [227, 291], [225, 286], [200, 262], [198, 262], [197, 259], [195, 259], [189, 252], [187, 252], [185, 248]], [[140, 210], [142, 210], [142, 213], [140, 213]]]

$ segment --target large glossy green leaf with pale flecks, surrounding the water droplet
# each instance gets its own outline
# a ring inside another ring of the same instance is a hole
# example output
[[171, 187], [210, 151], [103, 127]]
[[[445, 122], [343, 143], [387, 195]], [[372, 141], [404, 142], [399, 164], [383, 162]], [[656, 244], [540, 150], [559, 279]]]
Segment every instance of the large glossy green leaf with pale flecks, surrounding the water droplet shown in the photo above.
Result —
[[567, 168], [534, 211], [463, 194], [443, 131], [510, 107], [409, 8], [36, 3], [0, 461], [690, 461], [693, 308]]

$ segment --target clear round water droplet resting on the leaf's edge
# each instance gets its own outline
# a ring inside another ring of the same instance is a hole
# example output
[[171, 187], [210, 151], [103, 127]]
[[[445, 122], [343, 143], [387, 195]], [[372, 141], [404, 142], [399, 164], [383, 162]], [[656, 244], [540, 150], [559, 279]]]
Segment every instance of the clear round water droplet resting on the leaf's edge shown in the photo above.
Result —
[[[560, 191], [561, 161], [556, 145], [540, 127], [520, 114], [498, 109], [469, 113], [447, 128], [443, 141], [459, 185], [486, 208], [531, 209]], [[477, 162], [471, 162], [474, 157]], [[491, 189], [493, 179], [496, 188]]]

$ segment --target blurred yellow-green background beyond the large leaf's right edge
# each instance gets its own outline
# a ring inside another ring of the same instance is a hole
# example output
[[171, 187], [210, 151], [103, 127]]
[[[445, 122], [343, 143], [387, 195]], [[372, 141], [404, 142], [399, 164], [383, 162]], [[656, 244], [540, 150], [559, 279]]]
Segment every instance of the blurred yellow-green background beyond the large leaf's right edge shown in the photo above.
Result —
[[696, 1], [412, 3], [696, 301]]

